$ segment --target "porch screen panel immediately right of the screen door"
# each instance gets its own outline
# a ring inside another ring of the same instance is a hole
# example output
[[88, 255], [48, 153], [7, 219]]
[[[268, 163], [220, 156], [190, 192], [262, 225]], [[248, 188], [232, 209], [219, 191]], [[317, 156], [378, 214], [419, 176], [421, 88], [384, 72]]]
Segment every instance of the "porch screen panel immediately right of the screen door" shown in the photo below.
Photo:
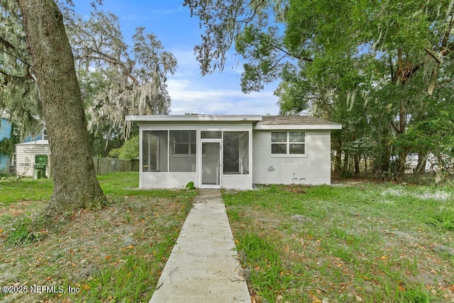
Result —
[[248, 131], [224, 131], [223, 173], [224, 175], [249, 174]]

